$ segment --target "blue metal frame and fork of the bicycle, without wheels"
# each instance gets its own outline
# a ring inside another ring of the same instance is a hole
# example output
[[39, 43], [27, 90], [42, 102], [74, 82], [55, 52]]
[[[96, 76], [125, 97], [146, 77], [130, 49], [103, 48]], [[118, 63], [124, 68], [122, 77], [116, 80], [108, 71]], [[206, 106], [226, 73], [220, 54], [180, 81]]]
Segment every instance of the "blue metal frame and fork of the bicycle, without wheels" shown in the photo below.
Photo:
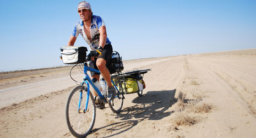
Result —
[[[86, 98], [86, 106], [85, 106], [85, 110], [84, 112], [87, 111], [87, 108], [88, 108], [88, 101], [89, 101], [89, 95], [90, 95], [90, 85], [93, 87], [93, 89], [96, 91], [97, 95], [100, 96], [105, 103], [107, 102], [110, 102], [110, 101], [107, 101], [106, 98], [101, 94], [100, 90], [94, 85], [94, 83], [92, 82], [91, 78], [89, 77], [89, 75], [87, 74], [87, 71], [94, 71], [96, 73], [100, 73], [99, 70], [96, 70], [96, 69], [92, 69], [91, 67], [88, 67], [87, 63], [84, 63], [84, 81], [81, 82], [81, 85], [84, 85], [86, 84], [87, 85], [87, 98]], [[119, 90], [117, 89], [117, 86], [115, 85], [115, 83], [113, 82], [113, 80], [111, 79], [111, 82], [112, 84], [114, 85], [115, 89], [117, 90], [117, 93], [119, 93]], [[85, 89], [86, 91], [86, 89]], [[80, 105], [81, 105], [81, 97], [82, 97], [82, 92], [80, 92], [80, 99], [79, 99], [79, 105], [78, 105], [78, 112], [79, 112], [79, 109], [80, 109]], [[117, 97], [117, 96], [116, 96]], [[115, 97], [115, 98], [116, 98]]]

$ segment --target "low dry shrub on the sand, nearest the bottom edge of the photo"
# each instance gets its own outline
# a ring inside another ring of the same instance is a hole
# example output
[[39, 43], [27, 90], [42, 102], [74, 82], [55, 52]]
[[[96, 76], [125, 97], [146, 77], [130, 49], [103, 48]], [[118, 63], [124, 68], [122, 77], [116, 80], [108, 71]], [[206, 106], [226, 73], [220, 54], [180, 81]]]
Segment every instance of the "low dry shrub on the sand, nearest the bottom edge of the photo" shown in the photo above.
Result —
[[197, 117], [181, 112], [177, 113], [175, 118], [173, 118], [173, 123], [177, 126], [192, 126], [198, 121]]

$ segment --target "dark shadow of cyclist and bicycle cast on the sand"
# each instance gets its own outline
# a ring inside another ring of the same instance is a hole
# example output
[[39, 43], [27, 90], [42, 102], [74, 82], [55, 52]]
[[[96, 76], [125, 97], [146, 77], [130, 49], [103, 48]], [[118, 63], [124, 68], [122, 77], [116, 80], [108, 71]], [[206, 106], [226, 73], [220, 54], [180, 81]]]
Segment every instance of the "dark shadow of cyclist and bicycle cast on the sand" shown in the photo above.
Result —
[[[169, 91], [149, 91], [143, 96], [135, 98], [132, 101], [135, 103], [134, 106], [126, 107], [121, 113], [115, 114], [115, 118], [122, 120], [121, 122], [94, 129], [92, 133], [104, 129], [108, 131], [105, 133], [104, 137], [111, 137], [133, 128], [133, 126], [145, 119], [160, 120], [168, 117], [173, 112], [166, 112], [166, 110], [177, 102], [175, 93], [176, 89]], [[109, 133], [111, 133], [111, 135], [109, 135]]]

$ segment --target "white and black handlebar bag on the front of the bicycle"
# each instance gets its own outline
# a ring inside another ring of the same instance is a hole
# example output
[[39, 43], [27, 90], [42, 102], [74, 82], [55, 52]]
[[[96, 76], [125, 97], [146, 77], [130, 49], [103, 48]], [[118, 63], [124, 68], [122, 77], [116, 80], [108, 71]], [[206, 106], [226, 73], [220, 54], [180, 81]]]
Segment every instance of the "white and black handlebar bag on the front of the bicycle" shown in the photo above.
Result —
[[63, 46], [61, 49], [61, 57], [64, 64], [84, 63], [86, 60], [86, 47], [82, 46]]

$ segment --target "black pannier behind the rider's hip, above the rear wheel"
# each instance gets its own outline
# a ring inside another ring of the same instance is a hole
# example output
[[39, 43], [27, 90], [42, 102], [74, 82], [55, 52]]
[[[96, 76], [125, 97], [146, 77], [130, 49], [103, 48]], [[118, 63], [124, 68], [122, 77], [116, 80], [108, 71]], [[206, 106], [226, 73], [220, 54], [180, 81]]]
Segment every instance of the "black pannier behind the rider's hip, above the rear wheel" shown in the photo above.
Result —
[[118, 73], [123, 70], [122, 57], [120, 57], [118, 52], [113, 51], [112, 58], [108, 62], [107, 68], [110, 71], [110, 74]]

